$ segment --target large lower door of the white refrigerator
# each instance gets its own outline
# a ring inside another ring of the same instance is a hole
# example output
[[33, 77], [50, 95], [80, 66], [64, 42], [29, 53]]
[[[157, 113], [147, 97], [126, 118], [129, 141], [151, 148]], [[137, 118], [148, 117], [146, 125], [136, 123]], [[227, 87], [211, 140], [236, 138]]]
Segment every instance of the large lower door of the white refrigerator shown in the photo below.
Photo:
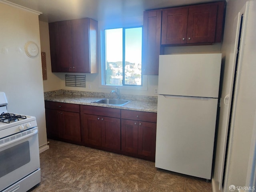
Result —
[[158, 95], [157, 168], [211, 179], [218, 99]]

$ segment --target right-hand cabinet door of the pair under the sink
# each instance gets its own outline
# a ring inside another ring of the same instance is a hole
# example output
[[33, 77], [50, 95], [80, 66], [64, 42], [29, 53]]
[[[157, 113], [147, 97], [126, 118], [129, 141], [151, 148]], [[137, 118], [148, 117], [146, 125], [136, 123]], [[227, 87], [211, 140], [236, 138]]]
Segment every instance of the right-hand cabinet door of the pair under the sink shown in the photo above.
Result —
[[120, 119], [101, 117], [102, 121], [102, 146], [110, 149], [121, 150]]

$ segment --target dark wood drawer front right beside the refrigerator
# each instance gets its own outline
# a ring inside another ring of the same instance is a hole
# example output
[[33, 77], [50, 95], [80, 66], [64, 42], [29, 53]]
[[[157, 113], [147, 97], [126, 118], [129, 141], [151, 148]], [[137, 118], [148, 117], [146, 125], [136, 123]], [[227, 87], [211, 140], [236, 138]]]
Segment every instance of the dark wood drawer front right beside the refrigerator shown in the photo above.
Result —
[[121, 110], [122, 119], [139, 120], [146, 122], [156, 122], [156, 113], [143, 112], [143, 111], [132, 111], [132, 110]]

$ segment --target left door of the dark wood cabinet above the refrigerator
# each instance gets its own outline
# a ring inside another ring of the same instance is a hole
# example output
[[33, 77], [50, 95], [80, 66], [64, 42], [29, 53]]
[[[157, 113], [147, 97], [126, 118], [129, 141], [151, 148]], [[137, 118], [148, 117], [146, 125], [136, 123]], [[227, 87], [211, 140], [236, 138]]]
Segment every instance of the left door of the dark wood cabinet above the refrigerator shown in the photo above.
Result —
[[161, 44], [186, 44], [187, 25], [188, 7], [164, 9]]

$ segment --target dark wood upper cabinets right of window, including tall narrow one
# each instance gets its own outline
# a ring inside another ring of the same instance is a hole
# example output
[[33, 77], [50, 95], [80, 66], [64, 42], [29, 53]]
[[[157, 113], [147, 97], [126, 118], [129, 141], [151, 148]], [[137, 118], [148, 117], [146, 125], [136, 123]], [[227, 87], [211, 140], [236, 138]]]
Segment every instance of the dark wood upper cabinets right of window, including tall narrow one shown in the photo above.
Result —
[[221, 42], [225, 1], [144, 11], [142, 74], [158, 75], [164, 46]]

